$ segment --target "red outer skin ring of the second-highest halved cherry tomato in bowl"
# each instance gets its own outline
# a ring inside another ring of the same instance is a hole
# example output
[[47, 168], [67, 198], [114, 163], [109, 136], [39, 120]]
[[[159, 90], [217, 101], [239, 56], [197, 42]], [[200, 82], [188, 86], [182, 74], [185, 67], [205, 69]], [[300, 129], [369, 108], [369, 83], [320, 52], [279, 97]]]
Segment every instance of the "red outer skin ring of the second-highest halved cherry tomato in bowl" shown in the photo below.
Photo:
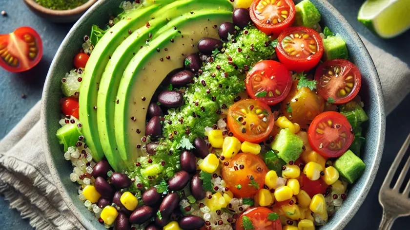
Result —
[[[310, 55], [309, 58], [302, 58], [302, 57], [296, 57], [296, 56], [290, 56], [284, 49], [282, 41], [284, 40], [285, 37], [292, 33], [296, 32], [305, 32], [309, 36], [311, 36], [315, 41], [317, 45], [317, 52]], [[291, 71], [296, 71], [296, 72], [301, 72], [301, 71], [309, 71], [313, 69], [317, 64], [319, 64], [320, 59], [322, 58], [324, 49], [323, 49], [323, 41], [322, 38], [320, 37], [319, 33], [317, 33], [315, 30], [304, 27], [304, 26], [298, 26], [298, 27], [289, 27], [285, 29], [278, 37], [279, 44], [276, 46], [276, 53], [278, 56], [279, 61], [284, 64], [288, 70]]]

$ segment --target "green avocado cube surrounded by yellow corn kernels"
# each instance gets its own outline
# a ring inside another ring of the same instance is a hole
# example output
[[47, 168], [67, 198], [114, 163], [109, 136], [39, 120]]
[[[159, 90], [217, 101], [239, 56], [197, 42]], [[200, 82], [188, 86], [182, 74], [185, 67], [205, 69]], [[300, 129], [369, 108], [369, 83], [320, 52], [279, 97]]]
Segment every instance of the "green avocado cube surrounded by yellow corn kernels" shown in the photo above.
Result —
[[303, 152], [303, 141], [291, 133], [288, 128], [285, 128], [276, 135], [270, 147], [285, 162], [295, 161]]

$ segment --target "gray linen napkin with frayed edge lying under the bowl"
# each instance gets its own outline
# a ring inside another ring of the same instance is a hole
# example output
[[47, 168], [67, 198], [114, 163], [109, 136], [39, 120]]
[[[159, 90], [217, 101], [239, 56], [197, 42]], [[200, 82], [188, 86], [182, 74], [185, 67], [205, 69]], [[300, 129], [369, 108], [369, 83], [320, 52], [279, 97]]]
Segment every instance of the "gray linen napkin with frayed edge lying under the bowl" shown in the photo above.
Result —
[[[379, 72], [389, 114], [410, 92], [409, 67], [369, 41], [363, 41]], [[19, 210], [22, 218], [29, 218], [38, 230], [83, 229], [53, 184], [42, 151], [39, 119], [40, 103], [37, 103], [1, 140], [0, 193], [9, 200], [11, 208]]]

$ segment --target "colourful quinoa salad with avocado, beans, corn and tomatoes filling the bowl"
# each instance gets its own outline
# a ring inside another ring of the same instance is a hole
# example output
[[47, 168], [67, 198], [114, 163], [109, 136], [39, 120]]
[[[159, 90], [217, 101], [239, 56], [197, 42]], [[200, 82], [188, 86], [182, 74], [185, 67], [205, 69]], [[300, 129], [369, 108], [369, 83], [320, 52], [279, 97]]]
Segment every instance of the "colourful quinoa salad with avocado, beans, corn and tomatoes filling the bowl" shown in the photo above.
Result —
[[326, 225], [366, 167], [368, 117], [360, 71], [314, 4], [119, 9], [62, 76], [57, 137], [84, 208], [115, 230]]

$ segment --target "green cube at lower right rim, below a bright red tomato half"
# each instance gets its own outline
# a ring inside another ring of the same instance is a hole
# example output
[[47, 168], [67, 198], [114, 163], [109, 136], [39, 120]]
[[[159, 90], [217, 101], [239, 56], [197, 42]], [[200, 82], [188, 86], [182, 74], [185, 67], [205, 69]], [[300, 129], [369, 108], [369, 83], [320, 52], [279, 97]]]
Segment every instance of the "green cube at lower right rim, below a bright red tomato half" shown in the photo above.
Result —
[[366, 168], [363, 160], [350, 150], [334, 161], [333, 166], [339, 171], [340, 176], [344, 177], [350, 184], [362, 176]]

